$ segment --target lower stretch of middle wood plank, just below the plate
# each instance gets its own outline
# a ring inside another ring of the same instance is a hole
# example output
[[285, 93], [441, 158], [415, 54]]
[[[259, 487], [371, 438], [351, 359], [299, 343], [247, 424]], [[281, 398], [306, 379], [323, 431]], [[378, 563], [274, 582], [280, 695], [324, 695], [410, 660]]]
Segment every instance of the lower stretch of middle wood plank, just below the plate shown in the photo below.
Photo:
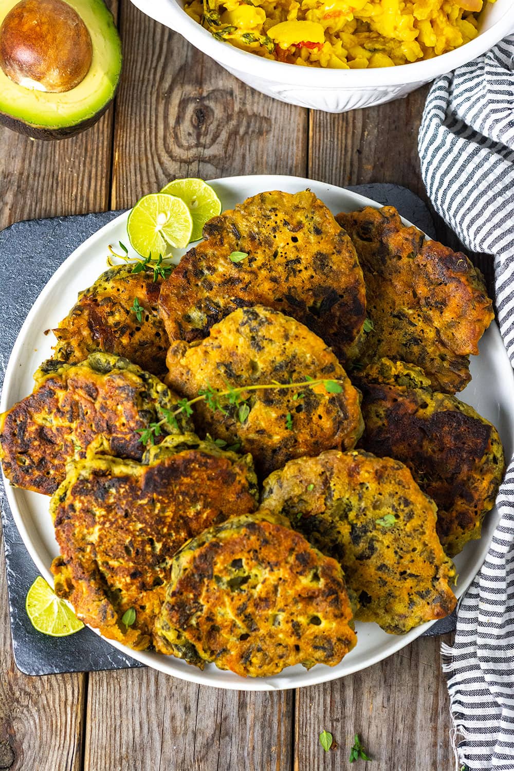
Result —
[[151, 670], [89, 679], [84, 771], [289, 771], [291, 693], [220, 691]]

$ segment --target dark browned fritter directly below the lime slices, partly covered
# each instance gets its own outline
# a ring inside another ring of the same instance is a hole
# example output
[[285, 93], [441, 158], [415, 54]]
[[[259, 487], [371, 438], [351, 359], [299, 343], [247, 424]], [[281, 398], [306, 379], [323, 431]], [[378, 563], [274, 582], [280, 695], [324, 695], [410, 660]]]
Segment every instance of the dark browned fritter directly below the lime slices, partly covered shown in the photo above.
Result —
[[[154, 375], [166, 372], [168, 338], [157, 311], [161, 279], [153, 281], [153, 271], [132, 270], [132, 265], [111, 268], [79, 293], [69, 315], [53, 330], [55, 359], [78, 364], [94, 351], [105, 351]], [[140, 320], [133, 309], [136, 298]]]

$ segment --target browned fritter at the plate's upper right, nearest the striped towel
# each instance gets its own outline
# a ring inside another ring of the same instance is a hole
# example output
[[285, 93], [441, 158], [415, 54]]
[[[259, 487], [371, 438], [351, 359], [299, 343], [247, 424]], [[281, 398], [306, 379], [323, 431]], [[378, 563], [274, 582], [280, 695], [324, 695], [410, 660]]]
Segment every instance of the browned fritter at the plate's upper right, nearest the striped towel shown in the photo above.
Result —
[[494, 318], [479, 271], [462, 252], [404, 227], [394, 207], [365, 207], [337, 220], [357, 249], [374, 327], [359, 362], [410, 362], [433, 388], [462, 391], [471, 379], [469, 354], [478, 354]]

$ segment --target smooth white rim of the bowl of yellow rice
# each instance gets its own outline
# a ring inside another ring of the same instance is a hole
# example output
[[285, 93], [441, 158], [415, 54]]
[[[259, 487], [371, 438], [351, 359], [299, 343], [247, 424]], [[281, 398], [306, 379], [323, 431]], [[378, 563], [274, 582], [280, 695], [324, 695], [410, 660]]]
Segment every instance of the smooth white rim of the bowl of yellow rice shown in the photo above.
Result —
[[[324, 82], [320, 82], [318, 67], [299, 67], [287, 62], [277, 62], [242, 51], [235, 46], [213, 38], [207, 29], [191, 19], [180, 7], [179, 0], [131, 0], [136, 8], [161, 24], [179, 32], [197, 49], [215, 59], [234, 74], [245, 73], [255, 80], [267, 80], [315, 88], [320, 91], [343, 88], [387, 88], [422, 83], [450, 72], [452, 69], [471, 62], [477, 56], [496, 45], [502, 38], [514, 32], [514, 4], [506, 0], [500, 18], [489, 29], [479, 32], [473, 40], [458, 49], [448, 51], [433, 59], [373, 69], [331, 69], [323, 68]], [[496, 0], [501, 2], [501, 0]], [[259, 62], [256, 66], [256, 60]]]

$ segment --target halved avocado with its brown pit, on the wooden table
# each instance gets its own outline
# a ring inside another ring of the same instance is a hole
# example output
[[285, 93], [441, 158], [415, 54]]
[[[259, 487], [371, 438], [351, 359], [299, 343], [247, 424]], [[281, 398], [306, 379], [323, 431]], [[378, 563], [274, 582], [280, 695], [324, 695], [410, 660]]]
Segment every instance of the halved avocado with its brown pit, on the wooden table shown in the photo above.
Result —
[[[15, 8], [18, 5], [21, 8]], [[2, 50], [2, 41], [5, 42], [6, 40], [4, 33], [8, 27], [8, 19], [6, 20], [5, 17], [12, 14], [10, 18], [13, 19], [13, 15], [15, 15], [15, 23], [10, 25], [14, 33], [18, 25], [22, 29], [19, 21], [20, 10], [24, 11], [23, 6], [25, 5], [35, 6], [35, 8], [29, 8], [29, 13], [32, 16], [34, 11], [39, 11], [38, 0], [35, 2], [30, 0], [29, 3], [18, 2], [18, 0], [0, 0], [0, 51]], [[43, 5], [52, 5], [52, 2], [43, 0]], [[47, 82], [44, 78], [41, 79], [41, 82], [35, 82], [37, 76], [35, 79], [17, 77], [17, 62], [11, 66], [12, 61], [6, 62], [6, 57], [0, 56], [0, 124], [32, 136], [34, 139], [63, 139], [96, 123], [113, 101], [121, 71], [122, 56], [118, 31], [114, 24], [113, 15], [102, 0], [66, 0], [66, 3], [59, 0], [59, 5], [70, 6], [69, 15], [75, 16], [76, 19], [76, 14], [78, 14], [86, 27], [86, 31], [89, 32], [91, 45], [88, 51], [86, 41], [84, 50], [86, 56], [90, 56], [90, 64], [89, 59], [86, 59], [83, 72], [78, 74], [78, 78], [82, 77], [78, 85], [72, 85], [69, 90], [57, 92], [55, 89], [59, 87], [62, 89], [63, 87], [61, 83], [60, 86], [55, 86], [52, 92], [46, 91], [44, 89], [47, 87]], [[41, 8], [41, 10], [43, 12], [47, 9]], [[79, 22], [77, 19], [76, 21]], [[36, 35], [39, 34], [39, 30], [41, 30], [42, 35], [53, 34], [52, 24], [39, 24], [37, 19], [35, 23], [34, 19], [29, 19], [29, 22], [31, 22], [33, 29], [38, 31], [35, 32]], [[48, 17], [45, 22], [48, 22]], [[79, 26], [78, 23], [75, 28]], [[83, 35], [82, 39], [84, 39]], [[22, 31], [22, 42], [26, 40], [27, 34]], [[12, 48], [10, 41], [5, 43], [4, 52], [6, 49], [10, 51], [9, 46]], [[22, 66], [25, 66], [25, 62], [30, 60], [31, 56], [32, 61], [38, 58], [37, 51], [33, 56], [30, 51], [27, 54], [24, 48], [26, 46], [20, 46], [21, 54], [18, 56], [18, 59], [22, 61]], [[41, 46], [39, 48], [41, 49]], [[59, 45], [59, 42], [54, 48], [56, 49], [55, 56], [59, 57], [61, 53], [64, 56], [63, 47]], [[69, 47], [70, 51], [76, 50], [76, 48], [77, 45]], [[62, 65], [62, 72], [68, 72], [69, 62], [62, 62]], [[31, 66], [31, 61], [29, 61], [28, 66]], [[49, 67], [50, 69], [51, 67]], [[78, 66], [77, 69], [79, 71], [80, 67]], [[9, 75], [6, 74], [6, 71]], [[37, 68], [34, 71], [37, 71]], [[18, 82], [15, 82], [15, 79], [18, 79]], [[66, 76], [63, 77], [63, 82], [66, 88]]]

